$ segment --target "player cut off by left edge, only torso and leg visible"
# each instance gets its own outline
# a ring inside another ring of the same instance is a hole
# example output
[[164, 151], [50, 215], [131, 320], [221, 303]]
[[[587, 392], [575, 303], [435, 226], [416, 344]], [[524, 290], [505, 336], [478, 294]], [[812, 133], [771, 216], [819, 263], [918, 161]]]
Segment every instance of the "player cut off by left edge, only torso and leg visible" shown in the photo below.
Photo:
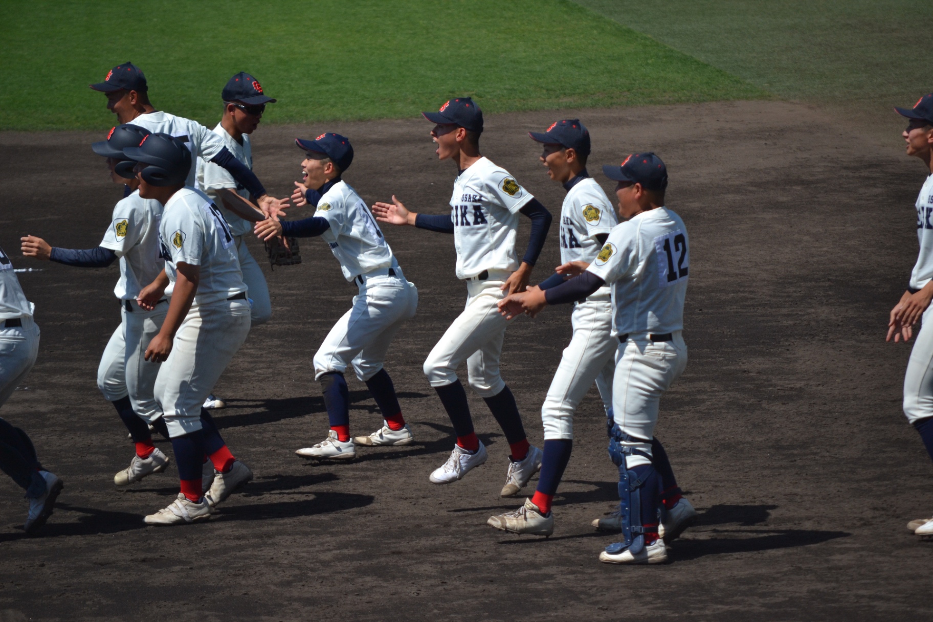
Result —
[[[39, 327], [33, 321], [34, 311], [35, 305], [22, 293], [12, 262], [0, 248], [0, 407], [35, 364]], [[26, 533], [37, 532], [52, 515], [64, 484], [39, 463], [29, 435], [3, 419], [0, 469], [26, 491], [29, 513], [22, 528]]]

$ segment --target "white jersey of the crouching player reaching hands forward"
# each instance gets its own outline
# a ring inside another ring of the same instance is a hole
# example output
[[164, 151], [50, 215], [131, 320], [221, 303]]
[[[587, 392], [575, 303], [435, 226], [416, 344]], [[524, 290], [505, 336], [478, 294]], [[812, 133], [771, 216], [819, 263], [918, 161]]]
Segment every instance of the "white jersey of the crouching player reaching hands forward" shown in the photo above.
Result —
[[376, 224], [366, 202], [346, 182], [339, 181], [324, 193], [317, 201], [314, 215], [330, 223], [321, 238], [341, 262], [343, 278], [347, 281], [371, 270], [398, 267], [383, 230]]

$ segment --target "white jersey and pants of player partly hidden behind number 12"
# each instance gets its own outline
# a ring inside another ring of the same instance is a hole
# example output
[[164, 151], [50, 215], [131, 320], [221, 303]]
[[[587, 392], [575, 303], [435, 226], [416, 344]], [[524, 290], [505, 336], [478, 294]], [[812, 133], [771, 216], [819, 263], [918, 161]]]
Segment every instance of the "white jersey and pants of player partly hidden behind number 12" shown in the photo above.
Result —
[[[579, 180], [561, 206], [561, 263], [592, 263], [600, 234], [619, 224], [606, 192], [592, 177]], [[572, 439], [574, 413], [595, 381], [603, 406], [612, 406], [612, 376], [617, 342], [611, 337], [612, 303], [608, 285], [574, 304], [573, 338], [564, 349], [554, 380], [541, 407], [544, 439]]]

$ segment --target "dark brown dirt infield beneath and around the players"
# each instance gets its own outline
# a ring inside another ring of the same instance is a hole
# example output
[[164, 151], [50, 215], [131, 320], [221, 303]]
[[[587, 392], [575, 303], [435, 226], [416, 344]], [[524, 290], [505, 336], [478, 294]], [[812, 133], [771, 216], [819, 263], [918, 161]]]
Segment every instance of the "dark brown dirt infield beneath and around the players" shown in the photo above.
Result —
[[[19, 255], [27, 233], [66, 247], [100, 242], [120, 196], [88, 147], [100, 136], [6, 133], [0, 245], [18, 268], [43, 270], [20, 274], [42, 344], [32, 375], [0, 414], [33, 436], [66, 488], [45, 536], [26, 538], [21, 491], [0, 477], [0, 620], [933, 615], [933, 550], [904, 529], [931, 511], [931, 464], [900, 413], [909, 350], [884, 343], [887, 311], [916, 255], [912, 203], [922, 165], [900, 155], [896, 139], [880, 148], [873, 135], [797, 104], [487, 119], [484, 154], [555, 214], [564, 192], [524, 131], [576, 115], [592, 131], [592, 173], [631, 150], [665, 159], [668, 205], [690, 231], [690, 361], [661, 403], [658, 435], [702, 516], [672, 546], [670, 564], [596, 559], [614, 538], [589, 522], [617, 499], [618, 474], [594, 390], [578, 412], [550, 539], [484, 524], [522, 500], [497, 496], [508, 445], [474, 394], [489, 462], [453, 485], [428, 482], [453, 440], [421, 368], [462, 308], [465, 287], [453, 275], [452, 238], [411, 228], [385, 228], [420, 293], [386, 368], [417, 444], [363, 449], [338, 465], [293, 455], [327, 431], [312, 356], [355, 293], [326, 244], [302, 242], [300, 266], [264, 268], [272, 322], [253, 330], [216, 388], [228, 403], [216, 421], [257, 478], [207, 524], [147, 528], [142, 517], [167, 505], [177, 474], [173, 466], [121, 491], [111, 483], [132, 456], [95, 386], [119, 321], [116, 266], [76, 270]], [[441, 213], [454, 172], [435, 161], [428, 126], [260, 127], [256, 168], [273, 193], [290, 194], [301, 156], [291, 139], [340, 131], [356, 152], [345, 179], [365, 200], [395, 193], [416, 211]], [[535, 279], [558, 263], [554, 229]], [[569, 311], [550, 309], [508, 330], [503, 375], [535, 444]], [[375, 403], [363, 383], [348, 381], [353, 430], [369, 433], [380, 422]]]

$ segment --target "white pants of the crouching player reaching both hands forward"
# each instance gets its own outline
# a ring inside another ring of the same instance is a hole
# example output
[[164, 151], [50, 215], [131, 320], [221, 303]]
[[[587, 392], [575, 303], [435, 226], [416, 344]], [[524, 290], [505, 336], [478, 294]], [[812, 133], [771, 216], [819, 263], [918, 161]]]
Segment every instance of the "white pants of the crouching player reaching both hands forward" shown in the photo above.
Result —
[[353, 307], [333, 325], [314, 354], [314, 380], [353, 366], [356, 378], [365, 382], [383, 368], [389, 344], [418, 309], [418, 288], [394, 270], [397, 276], [364, 276]]

